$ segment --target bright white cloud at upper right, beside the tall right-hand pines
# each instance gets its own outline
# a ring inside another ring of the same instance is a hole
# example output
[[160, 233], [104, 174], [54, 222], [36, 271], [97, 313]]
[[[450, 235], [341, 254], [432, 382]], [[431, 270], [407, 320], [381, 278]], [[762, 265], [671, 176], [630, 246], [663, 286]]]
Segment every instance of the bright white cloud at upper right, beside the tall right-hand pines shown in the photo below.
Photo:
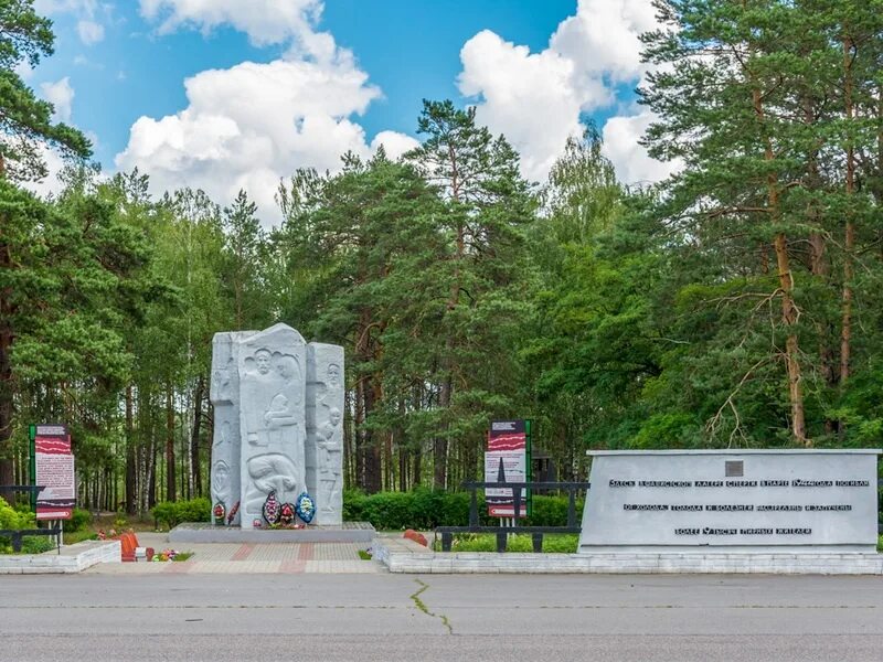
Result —
[[[646, 72], [638, 36], [656, 26], [650, 0], [579, 0], [539, 53], [485, 30], [460, 51], [459, 89], [478, 99], [477, 119], [519, 150], [523, 174], [544, 180], [567, 137], [582, 132], [582, 115], [616, 103], [617, 85], [638, 83]], [[649, 122], [650, 115], [635, 111], [603, 129], [625, 183], [657, 181], [672, 170], [638, 145]]]

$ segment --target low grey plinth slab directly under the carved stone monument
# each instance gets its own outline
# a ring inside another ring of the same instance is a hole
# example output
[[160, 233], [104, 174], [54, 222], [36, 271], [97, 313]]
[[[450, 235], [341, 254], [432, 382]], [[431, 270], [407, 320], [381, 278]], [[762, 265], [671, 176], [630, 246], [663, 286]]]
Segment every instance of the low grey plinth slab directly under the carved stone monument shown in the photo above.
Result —
[[170, 543], [370, 543], [374, 527], [368, 522], [305, 528], [240, 528], [209, 523], [179, 524], [169, 532]]

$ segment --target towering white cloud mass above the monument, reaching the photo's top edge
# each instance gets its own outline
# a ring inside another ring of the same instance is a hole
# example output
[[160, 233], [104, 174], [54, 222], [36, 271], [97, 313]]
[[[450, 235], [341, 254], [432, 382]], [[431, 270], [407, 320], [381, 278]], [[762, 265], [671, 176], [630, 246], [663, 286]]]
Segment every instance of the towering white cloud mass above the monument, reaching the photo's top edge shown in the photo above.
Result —
[[267, 222], [280, 220], [279, 181], [297, 168], [334, 171], [351, 151], [369, 157], [380, 145], [391, 158], [417, 145], [395, 131], [369, 143], [353, 120], [381, 96], [352, 54], [317, 32], [318, 0], [140, 0], [141, 13], [160, 23], [210, 31], [232, 25], [257, 44], [285, 44], [283, 58], [244, 62], [199, 73], [184, 82], [188, 106], [132, 125], [116, 167], [138, 167], [157, 192], [201, 188], [222, 204], [245, 189]]

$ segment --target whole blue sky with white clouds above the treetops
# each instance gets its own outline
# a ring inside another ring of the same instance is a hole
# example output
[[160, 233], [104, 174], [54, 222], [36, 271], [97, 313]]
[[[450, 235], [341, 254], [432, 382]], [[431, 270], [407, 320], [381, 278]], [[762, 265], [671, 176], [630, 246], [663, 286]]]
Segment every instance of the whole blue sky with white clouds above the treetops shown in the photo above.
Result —
[[56, 52], [28, 83], [94, 137], [105, 172], [137, 166], [158, 192], [201, 186], [223, 203], [245, 188], [273, 221], [273, 192], [295, 168], [411, 147], [423, 98], [477, 105], [535, 181], [588, 117], [621, 178], [666, 174], [637, 147], [650, 0], [35, 4]]

